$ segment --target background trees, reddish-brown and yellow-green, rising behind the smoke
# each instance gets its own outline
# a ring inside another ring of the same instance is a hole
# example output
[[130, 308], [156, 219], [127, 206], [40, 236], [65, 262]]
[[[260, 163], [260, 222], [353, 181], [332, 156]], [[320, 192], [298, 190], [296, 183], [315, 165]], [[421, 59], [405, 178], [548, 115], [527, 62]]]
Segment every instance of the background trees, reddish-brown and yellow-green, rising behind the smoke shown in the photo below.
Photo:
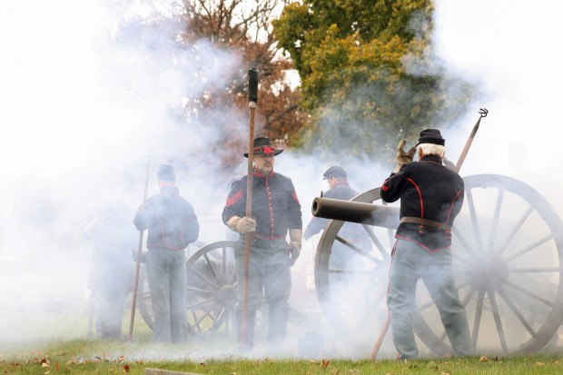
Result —
[[[246, 71], [256, 67], [257, 133], [335, 160], [392, 161], [400, 138], [414, 142], [422, 128], [455, 122], [475, 94], [443, 73], [431, 43], [433, 11], [430, 0], [180, 0], [181, 43], [204, 39], [244, 62], [225, 73], [226, 87], [206, 88], [183, 113], [247, 113]], [[287, 79], [291, 69], [301, 85]], [[198, 121], [229, 126], [226, 118]], [[223, 150], [246, 142], [228, 131], [219, 140]], [[230, 156], [222, 155], [227, 166]]]

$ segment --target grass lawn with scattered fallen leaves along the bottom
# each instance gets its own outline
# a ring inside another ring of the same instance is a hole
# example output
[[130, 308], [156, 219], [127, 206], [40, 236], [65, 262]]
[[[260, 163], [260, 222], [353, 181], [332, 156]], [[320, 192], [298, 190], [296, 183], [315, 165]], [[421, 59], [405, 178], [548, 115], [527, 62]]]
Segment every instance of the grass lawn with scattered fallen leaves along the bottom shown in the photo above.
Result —
[[[550, 354], [464, 359], [396, 360], [338, 358], [274, 358], [257, 340], [258, 354], [240, 356], [232, 337], [216, 334], [185, 345], [151, 344], [152, 331], [141, 318], [135, 320], [133, 341], [86, 338], [88, 320], [83, 316], [44, 316], [18, 328], [20, 340], [9, 340], [6, 327], [0, 335], [0, 374], [143, 374], [145, 368], [197, 374], [554, 374], [563, 373], [563, 351]], [[54, 327], [58, 327], [54, 331]], [[123, 333], [129, 317], [123, 317]], [[32, 335], [33, 331], [33, 335]], [[22, 333], [23, 332], [23, 333]], [[62, 334], [61, 332], [64, 332]], [[42, 334], [41, 334], [42, 333]], [[73, 336], [74, 333], [74, 336]], [[22, 339], [25, 337], [25, 339]], [[262, 351], [261, 351], [262, 350]], [[389, 357], [388, 357], [389, 358]]]

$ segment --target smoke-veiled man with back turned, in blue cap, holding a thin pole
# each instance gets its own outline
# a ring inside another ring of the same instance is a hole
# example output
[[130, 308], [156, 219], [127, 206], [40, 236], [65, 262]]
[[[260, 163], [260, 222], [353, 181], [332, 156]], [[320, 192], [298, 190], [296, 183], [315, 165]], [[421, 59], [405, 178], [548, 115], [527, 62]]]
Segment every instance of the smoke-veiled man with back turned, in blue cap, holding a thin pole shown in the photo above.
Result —
[[175, 186], [173, 166], [158, 169], [160, 193], [139, 207], [133, 223], [139, 231], [149, 230], [146, 272], [153, 301], [153, 342], [187, 341], [184, 249], [199, 236], [200, 224], [193, 206]]

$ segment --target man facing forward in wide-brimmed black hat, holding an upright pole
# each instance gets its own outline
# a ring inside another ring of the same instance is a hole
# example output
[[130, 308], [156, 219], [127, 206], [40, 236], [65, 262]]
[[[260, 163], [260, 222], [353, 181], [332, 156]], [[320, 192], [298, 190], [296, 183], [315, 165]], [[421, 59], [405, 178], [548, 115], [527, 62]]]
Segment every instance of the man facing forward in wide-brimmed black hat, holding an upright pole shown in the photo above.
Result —
[[[246, 321], [246, 348], [252, 349], [256, 310], [265, 298], [268, 304], [268, 341], [285, 336], [291, 293], [291, 265], [301, 252], [301, 204], [289, 177], [273, 172], [278, 150], [266, 137], [253, 143], [252, 217], [246, 213], [248, 176], [235, 180], [222, 211], [222, 221], [240, 236], [234, 249], [239, 285], [236, 306], [238, 340], [242, 332], [242, 285], [244, 279], [244, 235], [252, 233]], [[248, 157], [248, 153], [244, 153]], [[290, 242], [286, 236], [290, 233]]]

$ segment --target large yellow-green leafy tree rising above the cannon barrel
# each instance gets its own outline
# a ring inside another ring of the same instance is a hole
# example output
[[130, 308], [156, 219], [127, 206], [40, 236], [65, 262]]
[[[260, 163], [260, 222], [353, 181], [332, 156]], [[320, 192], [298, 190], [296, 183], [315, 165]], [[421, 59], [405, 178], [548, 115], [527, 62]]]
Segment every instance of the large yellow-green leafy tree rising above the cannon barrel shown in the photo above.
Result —
[[285, 6], [274, 35], [299, 71], [300, 103], [311, 113], [293, 143], [392, 160], [400, 138], [413, 142], [422, 128], [454, 120], [471, 87], [441, 72], [430, 43], [432, 14], [430, 0]]

